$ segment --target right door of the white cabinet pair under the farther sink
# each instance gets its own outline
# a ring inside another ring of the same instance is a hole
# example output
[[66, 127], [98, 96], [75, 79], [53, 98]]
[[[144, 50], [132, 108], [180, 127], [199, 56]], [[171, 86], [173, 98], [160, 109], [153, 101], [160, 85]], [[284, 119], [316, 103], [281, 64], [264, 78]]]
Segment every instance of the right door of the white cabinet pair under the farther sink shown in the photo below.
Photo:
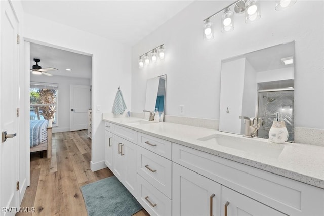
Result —
[[125, 187], [136, 198], [137, 194], [137, 145], [129, 141], [121, 145], [121, 156], [125, 157]]

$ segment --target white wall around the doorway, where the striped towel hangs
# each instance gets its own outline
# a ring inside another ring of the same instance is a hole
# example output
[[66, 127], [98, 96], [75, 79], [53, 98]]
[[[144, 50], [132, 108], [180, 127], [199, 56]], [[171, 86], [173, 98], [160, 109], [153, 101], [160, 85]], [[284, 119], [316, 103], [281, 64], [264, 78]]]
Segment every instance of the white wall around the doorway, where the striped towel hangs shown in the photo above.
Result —
[[[37, 31], [35, 31], [35, 23]], [[24, 37], [31, 42], [81, 51], [93, 55], [92, 108], [101, 106], [101, 112], [93, 112], [91, 169], [104, 165], [104, 124], [102, 113], [111, 112], [115, 94], [120, 86], [131, 110], [131, 48], [102, 37], [25, 14]]]

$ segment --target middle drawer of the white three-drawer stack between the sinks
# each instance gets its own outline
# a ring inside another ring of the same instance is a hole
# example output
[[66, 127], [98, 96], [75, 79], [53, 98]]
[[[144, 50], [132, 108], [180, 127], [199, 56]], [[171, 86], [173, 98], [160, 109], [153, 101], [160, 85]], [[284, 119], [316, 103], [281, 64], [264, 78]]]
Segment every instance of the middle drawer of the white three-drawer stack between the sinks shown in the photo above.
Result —
[[137, 146], [137, 173], [171, 199], [171, 160]]

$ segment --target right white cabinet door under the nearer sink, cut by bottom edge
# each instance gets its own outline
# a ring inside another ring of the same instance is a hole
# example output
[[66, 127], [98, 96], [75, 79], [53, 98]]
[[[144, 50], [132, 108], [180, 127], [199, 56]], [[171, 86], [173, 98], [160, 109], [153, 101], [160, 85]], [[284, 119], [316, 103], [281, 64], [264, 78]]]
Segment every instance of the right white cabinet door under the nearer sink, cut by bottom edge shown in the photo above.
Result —
[[[227, 203], [227, 204], [226, 204]], [[225, 206], [227, 205], [227, 206]], [[250, 197], [222, 186], [222, 215], [224, 216], [276, 216], [286, 215]]]

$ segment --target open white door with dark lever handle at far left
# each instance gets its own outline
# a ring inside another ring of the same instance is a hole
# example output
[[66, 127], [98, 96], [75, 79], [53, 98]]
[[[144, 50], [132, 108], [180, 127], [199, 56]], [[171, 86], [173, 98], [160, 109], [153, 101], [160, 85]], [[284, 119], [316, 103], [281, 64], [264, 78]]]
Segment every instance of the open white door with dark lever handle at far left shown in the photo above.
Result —
[[[0, 144], [0, 206], [1, 215], [15, 215], [18, 207], [18, 21], [9, 1], [1, 4], [1, 87], [0, 130], [7, 131], [6, 141]], [[10, 136], [11, 135], [11, 136]], [[2, 139], [3, 141], [3, 139]]]

